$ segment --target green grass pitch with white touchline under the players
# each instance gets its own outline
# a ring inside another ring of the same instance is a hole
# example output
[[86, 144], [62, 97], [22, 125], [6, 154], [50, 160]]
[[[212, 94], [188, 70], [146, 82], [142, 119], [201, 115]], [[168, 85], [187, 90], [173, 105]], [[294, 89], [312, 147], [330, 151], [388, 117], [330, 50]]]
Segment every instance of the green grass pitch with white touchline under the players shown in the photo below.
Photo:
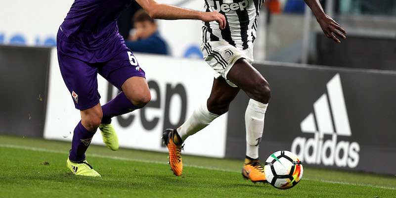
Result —
[[396, 198], [395, 176], [304, 167], [303, 180], [283, 191], [242, 179], [241, 160], [183, 155], [176, 177], [166, 153], [94, 145], [87, 159], [102, 177], [87, 178], [66, 169], [69, 149], [65, 142], [0, 136], [0, 197]]

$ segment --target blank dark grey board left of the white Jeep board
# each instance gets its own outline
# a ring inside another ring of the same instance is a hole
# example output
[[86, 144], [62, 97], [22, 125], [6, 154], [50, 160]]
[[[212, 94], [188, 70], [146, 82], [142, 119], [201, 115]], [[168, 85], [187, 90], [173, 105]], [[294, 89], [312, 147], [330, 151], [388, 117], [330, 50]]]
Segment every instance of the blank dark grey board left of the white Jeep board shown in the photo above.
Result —
[[0, 45], [1, 134], [43, 137], [49, 52]]

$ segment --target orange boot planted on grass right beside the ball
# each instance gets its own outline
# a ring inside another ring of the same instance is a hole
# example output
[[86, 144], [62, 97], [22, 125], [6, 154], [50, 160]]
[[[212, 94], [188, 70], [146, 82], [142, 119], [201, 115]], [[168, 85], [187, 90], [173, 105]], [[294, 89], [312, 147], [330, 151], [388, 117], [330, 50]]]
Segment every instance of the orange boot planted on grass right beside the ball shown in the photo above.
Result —
[[245, 158], [245, 164], [242, 169], [242, 176], [245, 179], [250, 179], [253, 183], [267, 182], [265, 179], [264, 166], [260, 163], [259, 159]]

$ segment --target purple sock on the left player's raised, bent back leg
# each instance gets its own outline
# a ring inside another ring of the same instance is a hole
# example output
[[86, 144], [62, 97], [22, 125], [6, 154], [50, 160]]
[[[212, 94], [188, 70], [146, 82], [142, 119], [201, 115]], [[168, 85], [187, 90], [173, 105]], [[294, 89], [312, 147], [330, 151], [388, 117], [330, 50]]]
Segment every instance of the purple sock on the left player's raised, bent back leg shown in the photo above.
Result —
[[132, 102], [125, 96], [124, 92], [121, 92], [116, 96], [116, 98], [110, 100], [102, 106], [102, 123], [110, 124], [112, 117], [129, 113], [138, 108], [140, 107], [133, 105]]

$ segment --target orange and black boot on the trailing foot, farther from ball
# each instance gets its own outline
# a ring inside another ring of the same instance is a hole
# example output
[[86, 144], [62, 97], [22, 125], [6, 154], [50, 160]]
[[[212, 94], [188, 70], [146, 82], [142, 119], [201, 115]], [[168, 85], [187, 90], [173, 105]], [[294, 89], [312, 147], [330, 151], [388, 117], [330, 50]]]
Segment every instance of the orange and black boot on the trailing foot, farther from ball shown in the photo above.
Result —
[[[182, 140], [177, 134], [175, 129], [167, 129], [164, 131], [163, 137], [164, 144], [169, 150], [169, 164], [171, 164], [171, 170], [176, 176], [181, 175], [183, 170], [183, 163], [181, 162], [181, 150], [183, 149]], [[176, 141], [175, 141], [176, 138]]]

